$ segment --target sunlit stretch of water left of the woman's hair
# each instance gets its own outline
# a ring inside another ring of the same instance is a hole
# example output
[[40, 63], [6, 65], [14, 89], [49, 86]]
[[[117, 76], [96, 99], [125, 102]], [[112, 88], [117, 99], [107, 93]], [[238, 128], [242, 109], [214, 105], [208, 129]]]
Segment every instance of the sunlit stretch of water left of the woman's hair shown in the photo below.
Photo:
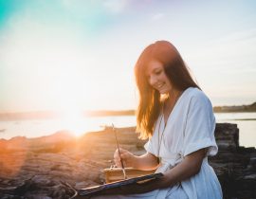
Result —
[[104, 126], [110, 126], [112, 123], [116, 127], [135, 126], [136, 118], [134, 116], [122, 116], [29, 119], [16, 121], [0, 120], [0, 138], [9, 139], [13, 136], [47, 136], [64, 130], [70, 131], [75, 136], [81, 136], [87, 132], [100, 131]]

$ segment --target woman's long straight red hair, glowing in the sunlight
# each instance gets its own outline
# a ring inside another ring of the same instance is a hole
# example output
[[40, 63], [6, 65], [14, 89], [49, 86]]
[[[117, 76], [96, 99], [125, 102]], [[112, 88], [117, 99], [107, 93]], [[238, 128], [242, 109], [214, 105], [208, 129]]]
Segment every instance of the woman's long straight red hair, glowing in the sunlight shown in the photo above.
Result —
[[158, 61], [164, 66], [165, 74], [173, 86], [184, 91], [189, 87], [200, 87], [192, 80], [192, 76], [177, 49], [167, 41], [157, 41], [148, 45], [140, 54], [135, 75], [139, 92], [137, 107], [137, 132], [140, 138], [146, 139], [153, 135], [155, 120], [161, 110], [160, 94], [153, 88], [146, 77], [147, 64]]

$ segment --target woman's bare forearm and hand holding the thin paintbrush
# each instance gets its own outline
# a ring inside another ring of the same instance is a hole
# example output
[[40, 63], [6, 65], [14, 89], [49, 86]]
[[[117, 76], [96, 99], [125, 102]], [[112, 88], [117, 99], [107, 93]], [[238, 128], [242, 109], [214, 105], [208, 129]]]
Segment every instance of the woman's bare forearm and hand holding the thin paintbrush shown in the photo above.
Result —
[[131, 154], [126, 150], [119, 149], [118, 151], [117, 149], [114, 154], [114, 160], [118, 167], [121, 167], [119, 152], [120, 152], [120, 157], [123, 161], [124, 167], [133, 167], [137, 170], [143, 170], [143, 171], [155, 170], [158, 167], [157, 157], [155, 157], [154, 154], [146, 153], [146, 154], [137, 156], [137, 155]]

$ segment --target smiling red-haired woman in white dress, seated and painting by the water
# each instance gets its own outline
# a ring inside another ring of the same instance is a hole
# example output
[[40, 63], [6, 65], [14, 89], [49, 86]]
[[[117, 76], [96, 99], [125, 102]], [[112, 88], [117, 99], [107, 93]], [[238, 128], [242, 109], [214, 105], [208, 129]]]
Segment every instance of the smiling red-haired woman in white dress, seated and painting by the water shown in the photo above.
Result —
[[208, 156], [217, 153], [215, 118], [180, 54], [166, 41], [147, 46], [135, 66], [137, 131], [149, 138], [146, 154], [114, 154], [116, 165], [164, 173], [157, 183], [110, 198], [220, 199], [222, 190]]

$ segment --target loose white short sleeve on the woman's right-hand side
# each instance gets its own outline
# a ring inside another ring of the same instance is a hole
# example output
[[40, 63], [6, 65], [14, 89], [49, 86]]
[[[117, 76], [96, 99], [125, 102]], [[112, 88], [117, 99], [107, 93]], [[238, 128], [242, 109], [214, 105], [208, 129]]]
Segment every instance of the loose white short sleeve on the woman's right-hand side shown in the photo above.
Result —
[[184, 156], [203, 148], [209, 148], [207, 155], [217, 154], [214, 130], [215, 118], [210, 99], [198, 91], [190, 100], [184, 133]]

